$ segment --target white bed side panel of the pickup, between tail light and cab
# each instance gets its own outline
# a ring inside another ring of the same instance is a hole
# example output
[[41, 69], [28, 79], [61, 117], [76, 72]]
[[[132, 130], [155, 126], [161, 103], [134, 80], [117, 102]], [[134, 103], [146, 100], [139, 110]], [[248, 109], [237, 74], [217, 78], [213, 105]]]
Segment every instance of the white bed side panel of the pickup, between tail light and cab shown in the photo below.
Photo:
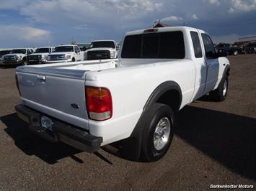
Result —
[[104, 135], [103, 144], [130, 136], [151, 93], [168, 80], [180, 85], [181, 108], [190, 103], [195, 83], [195, 66], [192, 60], [158, 60], [157, 63], [87, 73], [86, 85], [108, 88], [113, 107], [110, 120], [89, 121], [90, 133], [95, 136]]

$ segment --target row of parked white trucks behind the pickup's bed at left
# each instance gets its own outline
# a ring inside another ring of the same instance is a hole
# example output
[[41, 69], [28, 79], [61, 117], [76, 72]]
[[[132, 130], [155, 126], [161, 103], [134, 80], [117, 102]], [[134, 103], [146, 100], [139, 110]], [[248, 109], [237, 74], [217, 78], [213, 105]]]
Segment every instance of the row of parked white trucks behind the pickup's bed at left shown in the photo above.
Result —
[[0, 51], [1, 65], [36, 65], [54, 62], [82, 60], [104, 60], [118, 57], [118, 45], [114, 40], [93, 41], [89, 48], [81, 51], [77, 45], [57, 47], [20, 48]]

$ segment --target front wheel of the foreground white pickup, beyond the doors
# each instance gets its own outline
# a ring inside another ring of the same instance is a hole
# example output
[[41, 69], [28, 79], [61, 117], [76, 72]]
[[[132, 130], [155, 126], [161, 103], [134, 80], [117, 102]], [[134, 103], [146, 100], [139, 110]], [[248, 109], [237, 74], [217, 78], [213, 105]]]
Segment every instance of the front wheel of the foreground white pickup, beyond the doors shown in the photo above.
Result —
[[224, 101], [228, 93], [228, 88], [229, 78], [227, 75], [224, 75], [221, 82], [219, 83], [219, 87], [210, 93], [211, 99], [213, 99], [213, 101]]

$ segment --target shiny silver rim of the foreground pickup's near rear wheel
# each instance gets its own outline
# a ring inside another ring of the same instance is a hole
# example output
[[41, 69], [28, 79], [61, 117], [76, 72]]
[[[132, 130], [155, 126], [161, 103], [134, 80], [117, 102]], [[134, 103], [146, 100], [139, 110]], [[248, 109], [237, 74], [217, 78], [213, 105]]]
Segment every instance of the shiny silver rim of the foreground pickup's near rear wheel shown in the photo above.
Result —
[[154, 148], [161, 150], [167, 145], [169, 141], [169, 134], [171, 130], [171, 123], [169, 118], [164, 117], [159, 120], [154, 131]]

